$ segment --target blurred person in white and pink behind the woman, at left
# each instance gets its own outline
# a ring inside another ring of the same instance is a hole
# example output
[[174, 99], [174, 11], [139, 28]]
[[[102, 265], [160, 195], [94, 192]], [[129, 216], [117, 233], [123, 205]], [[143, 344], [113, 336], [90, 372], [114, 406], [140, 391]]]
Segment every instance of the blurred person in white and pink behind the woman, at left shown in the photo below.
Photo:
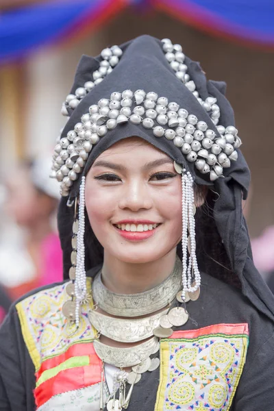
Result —
[[[49, 178], [51, 159], [40, 156], [18, 164], [6, 179], [5, 212], [13, 235], [0, 242], [0, 284], [12, 300], [38, 286], [62, 279], [62, 251], [55, 229], [60, 198]], [[14, 225], [16, 227], [14, 227]]]

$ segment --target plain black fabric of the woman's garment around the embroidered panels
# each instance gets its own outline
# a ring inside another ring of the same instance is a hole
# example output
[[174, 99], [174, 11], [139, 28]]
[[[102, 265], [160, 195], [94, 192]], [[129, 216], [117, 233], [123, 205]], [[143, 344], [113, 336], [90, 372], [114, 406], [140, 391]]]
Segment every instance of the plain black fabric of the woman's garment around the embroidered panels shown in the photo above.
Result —
[[[274, 326], [239, 290], [202, 273], [201, 295], [187, 303], [190, 319], [177, 329], [219, 323], [248, 323], [249, 347], [242, 377], [229, 411], [273, 410]], [[53, 284], [55, 286], [57, 284]], [[50, 288], [49, 286], [41, 289]], [[30, 295], [30, 294], [29, 294]], [[34, 365], [23, 341], [15, 306], [0, 329], [0, 410], [34, 411]], [[134, 387], [128, 411], [153, 411], [159, 369], [145, 373]]]

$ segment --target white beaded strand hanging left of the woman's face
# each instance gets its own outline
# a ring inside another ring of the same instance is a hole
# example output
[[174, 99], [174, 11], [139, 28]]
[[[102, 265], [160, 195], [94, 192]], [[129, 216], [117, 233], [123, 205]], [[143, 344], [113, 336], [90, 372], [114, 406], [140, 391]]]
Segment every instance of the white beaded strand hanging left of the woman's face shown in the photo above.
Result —
[[79, 327], [80, 303], [86, 297], [86, 270], [85, 270], [85, 183], [86, 177], [82, 177], [79, 188], [79, 230], [77, 234], [77, 264], [75, 274], [75, 323]]

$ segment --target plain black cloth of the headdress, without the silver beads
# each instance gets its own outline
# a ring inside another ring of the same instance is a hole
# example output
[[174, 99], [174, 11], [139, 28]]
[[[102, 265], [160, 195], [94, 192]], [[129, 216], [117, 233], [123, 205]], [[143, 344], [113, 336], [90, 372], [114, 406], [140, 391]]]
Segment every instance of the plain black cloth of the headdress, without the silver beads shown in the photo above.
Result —
[[[120, 46], [123, 55], [112, 73], [107, 75], [101, 83], [93, 88], [88, 95], [82, 99], [75, 110], [71, 110], [69, 121], [62, 132], [62, 137], [74, 129], [76, 123], [81, 121], [81, 116], [88, 113], [92, 104], [97, 104], [102, 98], [110, 99], [112, 92], [123, 92], [123, 90], [138, 89], [145, 92], [156, 92], [159, 97], [167, 97], [169, 101], [175, 101], [180, 108], [185, 108], [190, 114], [195, 114], [199, 121], [205, 121], [210, 129], [216, 134], [218, 131], [212, 123], [210, 116], [197, 101], [192, 92], [175, 76], [169, 66], [164, 52], [162, 42], [151, 36], [140, 36]], [[92, 58], [84, 55], [77, 67], [75, 82], [71, 92], [74, 93], [78, 87], [92, 79], [92, 73], [99, 68], [100, 57]], [[200, 97], [216, 97], [221, 111], [219, 124], [227, 127], [234, 125], [234, 112], [229, 101], [225, 98], [225, 83], [213, 82], [206, 79], [205, 73], [197, 62], [186, 58], [188, 74], [196, 84]], [[249, 234], [245, 219], [242, 216], [242, 197], [247, 197], [249, 188], [249, 169], [245, 159], [238, 150], [238, 160], [232, 162], [229, 169], [224, 169], [224, 178], [217, 179], [214, 184], [210, 182], [208, 175], [203, 175], [195, 169], [194, 165], [186, 160], [182, 151], [175, 147], [171, 140], [153, 136], [151, 129], [145, 129], [142, 125], [123, 123], [100, 138], [97, 145], [92, 147], [86, 166], [82, 175], [86, 175], [95, 159], [115, 142], [124, 138], [138, 136], [151, 145], [158, 147], [169, 155], [177, 163], [182, 164], [192, 173], [195, 182], [201, 185], [212, 186], [217, 193], [218, 199], [214, 202], [213, 218], [214, 226], [221, 236], [221, 241], [229, 258], [232, 272], [237, 280], [240, 280], [241, 290], [256, 308], [274, 320], [274, 299], [269, 288], [264, 284], [260, 274], [256, 270], [251, 254]], [[81, 175], [73, 183], [70, 197], [77, 197]], [[73, 225], [74, 207], [66, 206], [68, 197], [63, 197], [58, 212], [58, 229], [63, 250], [64, 278], [68, 278], [71, 266], [71, 235]], [[88, 235], [95, 240], [95, 235], [90, 226]], [[95, 243], [95, 241], [94, 241]], [[90, 250], [86, 250], [86, 271], [98, 264], [98, 259], [90, 258]], [[208, 272], [210, 274], [210, 272]]]

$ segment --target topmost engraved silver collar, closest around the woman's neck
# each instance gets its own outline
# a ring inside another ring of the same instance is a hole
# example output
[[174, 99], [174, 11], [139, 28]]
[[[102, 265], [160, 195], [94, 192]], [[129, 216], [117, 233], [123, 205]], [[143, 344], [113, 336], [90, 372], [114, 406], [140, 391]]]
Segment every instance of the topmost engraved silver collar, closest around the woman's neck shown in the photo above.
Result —
[[116, 294], [105, 288], [101, 271], [92, 283], [92, 297], [103, 311], [116, 316], [142, 316], [162, 310], [173, 299], [182, 284], [182, 262], [176, 257], [173, 272], [161, 284], [137, 294]]

